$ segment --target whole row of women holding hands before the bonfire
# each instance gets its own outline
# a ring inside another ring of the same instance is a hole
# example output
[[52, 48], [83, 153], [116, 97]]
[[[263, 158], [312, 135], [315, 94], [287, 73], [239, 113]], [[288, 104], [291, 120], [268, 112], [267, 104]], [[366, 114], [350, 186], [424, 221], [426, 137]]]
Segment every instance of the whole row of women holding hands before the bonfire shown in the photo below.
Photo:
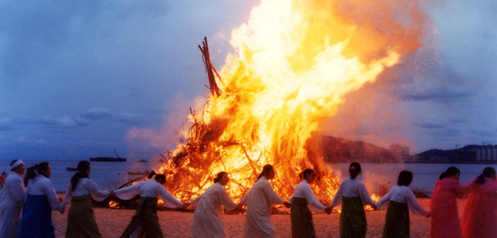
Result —
[[[13, 173], [6, 179], [6, 188], [1, 193], [0, 237], [55, 237], [51, 211], [64, 212], [64, 207], [69, 203], [71, 209], [69, 209], [66, 237], [102, 237], [93, 215], [91, 198], [102, 201], [109, 195], [123, 200], [130, 200], [136, 195], [141, 197], [137, 211], [121, 237], [139, 237], [144, 234], [148, 237], [162, 237], [156, 214], [158, 197], [167, 207], [196, 206], [190, 225], [193, 237], [225, 236], [220, 219], [221, 206], [228, 210], [247, 206], [244, 237], [274, 237], [274, 227], [270, 221], [272, 204], [291, 207], [292, 237], [315, 236], [309, 207], [330, 214], [333, 207], [342, 204], [339, 221], [341, 237], [365, 237], [367, 230], [363, 209], [365, 204], [381, 207], [389, 201], [383, 237], [409, 237], [409, 209], [413, 214], [430, 216], [430, 212], [419, 205], [412, 190], [407, 188], [412, 182], [411, 172], [400, 172], [398, 185], [374, 203], [363, 183], [356, 179], [361, 172], [360, 165], [356, 162], [351, 163], [350, 176], [340, 183], [330, 207], [318, 202], [309, 187], [309, 183], [316, 178], [316, 173], [312, 169], [305, 169], [300, 173], [302, 182], [295, 186], [290, 202], [285, 202], [268, 182], [274, 178], [274, 168], [265, 165], [258, 180], [238, 204], [230, 199], [224, 188], [229, 181], [226, 172], [219, 173], [214, 179], [214, 185], [202, 195], [190, 203], [183, 204], [162, 186], [165, 183], [165, 176], [162, 174], [156, 175], [155, 179], [135, 183], [110, 193], [99, 190], [97, 184], [88, 177], [91, 172], [90, 162], [81, 161], [78, 164], [78, 172], [69, 183], [64, 200], [59, 203], [49, 180], [51, 169], [48, 162], [29, 168], [24, 182], [21, 179], [25, 169], [22, 161], [13, 161], [10, 169]], [[34, 173], [34, 169], [37, 174]], [[466, 186], [458, 183], [459, 174], [458, 169], [449, 167], [437, 181], [430, 203], [433, 215], [430, 237], [463, 237], [462, 234], [464, 237], [496, 237], [496, 231], [492, 229], [497, 221], [497, 218], [493, 218], [496, 216], [493, 204], [497, 200], [495, 170], [491, 167], [485, 168], [482, 175]], [[24, 186], [27, 186], [26, 196]], [[467, 193], [471, 195], [463, 212], [464, 232], [462, 232], [455, 198]], [[25, 197], [24, 202], [23, 197]], [[23, 203], [22, 221], [20, 228], [16, 229]], [[483, 216], [484, 221], [479, 221], [474, 216]], [[18, 231], [19, 235], [16, 234]]]

